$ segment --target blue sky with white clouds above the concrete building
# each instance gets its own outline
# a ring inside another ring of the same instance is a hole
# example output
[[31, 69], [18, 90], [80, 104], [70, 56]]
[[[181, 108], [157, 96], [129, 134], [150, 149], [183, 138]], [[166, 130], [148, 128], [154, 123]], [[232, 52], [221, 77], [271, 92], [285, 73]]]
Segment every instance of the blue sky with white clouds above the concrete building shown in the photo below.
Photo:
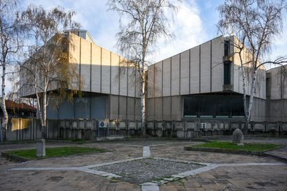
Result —
[[[219, 36], [216, 27], [218, 21], [216, 8], [223, 2], [223, 0], [184, 0], [181, 4], [178, 4], [179, 10], [175, 15], [174, 22], [170, 23], [170, 31], [175, 34], [175, 38], [168, 42], [165, 42], [164, 39], [159, 39], [155, 54], [150, 56], [152, 63]], [[46, 9], [61, 5], [66, 10], [74, 10], [77, 12], [75, 21], [81, 23], [82, 29], [90, 32], [97, 45], [119, 54], [115, 47], [117, 42], [115, 34], [119, 31], [119, 17], [114, 12], [107, 11], [106, 0], [21, 1], [23, 8], [30, 3], [43, 5]], [[287, 29], [286, 24], [284, 27]], [[270, 58], [286, 55], [286, 34], [285, 32], [282, 38], [275, 40], [273, 54], [271, 54]]]

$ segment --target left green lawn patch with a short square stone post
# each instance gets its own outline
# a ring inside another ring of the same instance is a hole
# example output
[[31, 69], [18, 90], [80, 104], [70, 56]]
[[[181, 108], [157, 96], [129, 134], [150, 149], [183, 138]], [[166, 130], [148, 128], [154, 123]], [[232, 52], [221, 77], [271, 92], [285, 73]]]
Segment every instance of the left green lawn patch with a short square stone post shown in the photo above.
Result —
[[[64, 146], [55, 148], [46, 148], [46, 157], [66, 157], [68, 155], [75, 155], [79, 153], [93, 153], [93, 152], [106, 152], [103, 148], [88, 148], [77, 146]], [[6, 153], [17, 155], [26, 159], [41, 159], [42, 157], [36, 157], [36, 149], [28, 150], [11, 150]]]

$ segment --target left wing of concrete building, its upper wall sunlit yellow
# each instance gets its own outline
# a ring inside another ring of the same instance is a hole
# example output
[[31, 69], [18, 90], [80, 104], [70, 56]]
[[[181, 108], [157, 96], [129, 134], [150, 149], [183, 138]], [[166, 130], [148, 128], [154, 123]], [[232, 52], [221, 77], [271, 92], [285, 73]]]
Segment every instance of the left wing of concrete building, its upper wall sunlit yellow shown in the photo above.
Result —
[[[72, 103], [64, 100], [59, 106], [50, 101], [48, 119], [139, 120], [140, 92], [134, 69], [126, 67], [123, 57], [96, 45], [86, 30], [70, 30], [67, 35], [72, 43], [69, 62], [75, 65], [81, 80], [75, 88], [82, 96]], [[24, 73], [23, 69], [22, 83]], [[22, 89], [21, 96], [33, 97], [34, 91]]]

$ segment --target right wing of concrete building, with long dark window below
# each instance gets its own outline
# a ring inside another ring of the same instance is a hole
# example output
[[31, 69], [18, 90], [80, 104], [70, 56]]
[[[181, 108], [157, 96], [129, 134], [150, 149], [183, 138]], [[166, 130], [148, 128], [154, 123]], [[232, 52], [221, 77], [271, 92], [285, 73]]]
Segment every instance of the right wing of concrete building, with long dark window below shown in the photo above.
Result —
[[[148, 120], [242, 120], [243, 85], [240, 63], [230, 41], [219, 36], [148, 67], [153, 81]], [[259, 71], [252, 120], [265, 120], [265, 69]], [[248, 95], [250, 90], [248, 89]]]

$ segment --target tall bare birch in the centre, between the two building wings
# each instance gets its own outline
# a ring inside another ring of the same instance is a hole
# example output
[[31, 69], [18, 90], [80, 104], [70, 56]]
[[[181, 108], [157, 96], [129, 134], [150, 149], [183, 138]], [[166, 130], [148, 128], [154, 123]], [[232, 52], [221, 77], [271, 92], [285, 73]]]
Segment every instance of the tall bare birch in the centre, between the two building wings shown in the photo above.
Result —
[[[109, 10], [119, 13], [120, 32], [117, 47], [139, 74], [141, 89], [141, 125], [146, 136], [146, 97], [148, 56], [161, 37], [170, 38], [168, 11], [176, 11], [168, 0], [110, 0]], [[124, 21], [124, 22], [121, 22]]]

